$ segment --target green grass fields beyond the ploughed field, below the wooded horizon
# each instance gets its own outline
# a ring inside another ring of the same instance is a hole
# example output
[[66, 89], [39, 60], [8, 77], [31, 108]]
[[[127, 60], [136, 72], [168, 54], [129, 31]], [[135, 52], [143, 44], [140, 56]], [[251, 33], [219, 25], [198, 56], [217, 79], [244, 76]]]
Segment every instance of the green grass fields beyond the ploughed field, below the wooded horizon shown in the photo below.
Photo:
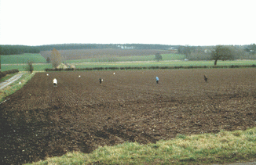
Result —
[[[77, 59], [67, 60], [65, 63], [74, 64], [75, 68], [90, 67], [125, 67], [125, 66], [214, 66], [214, 61], [185, 61], [184, 55], [179, 54], [163, 54], [163, 60], [155, 61], [155, 56], [121, 56], [95, 59]], [[23, 54], [13, 56], [1, 56], [2, 71], [18, 69], [26, 71], [27, 60], [33, 61], [35, 71], [43, 71], [46, 68], [52, 69], [50, 63], [46, 63], [46, 59], [40, 54]], [[108, 62], [114, 61], [114, 62]], [[218, 61], [217, 66], [232, 65], [255, 65], [256, 60], [234, 60], [234, 61]]]

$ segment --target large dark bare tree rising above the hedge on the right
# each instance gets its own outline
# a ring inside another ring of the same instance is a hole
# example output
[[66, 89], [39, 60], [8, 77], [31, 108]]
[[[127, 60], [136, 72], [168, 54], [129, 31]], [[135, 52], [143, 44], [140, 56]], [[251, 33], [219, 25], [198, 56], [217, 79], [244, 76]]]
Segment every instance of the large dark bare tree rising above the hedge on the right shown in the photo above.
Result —
[[214, 66], [217, 65], [218, 60], [234, 59], [232, 48], [225, 45], [216, 45], [210, 56], [214, 59]]

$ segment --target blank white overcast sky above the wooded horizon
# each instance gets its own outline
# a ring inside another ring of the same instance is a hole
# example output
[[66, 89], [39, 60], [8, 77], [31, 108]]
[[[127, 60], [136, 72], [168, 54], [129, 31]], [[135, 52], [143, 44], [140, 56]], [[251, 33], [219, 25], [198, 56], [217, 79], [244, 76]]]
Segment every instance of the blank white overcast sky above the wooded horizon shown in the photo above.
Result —
[[0, 0], [0, 45], [250, 45], [254, 0]]

